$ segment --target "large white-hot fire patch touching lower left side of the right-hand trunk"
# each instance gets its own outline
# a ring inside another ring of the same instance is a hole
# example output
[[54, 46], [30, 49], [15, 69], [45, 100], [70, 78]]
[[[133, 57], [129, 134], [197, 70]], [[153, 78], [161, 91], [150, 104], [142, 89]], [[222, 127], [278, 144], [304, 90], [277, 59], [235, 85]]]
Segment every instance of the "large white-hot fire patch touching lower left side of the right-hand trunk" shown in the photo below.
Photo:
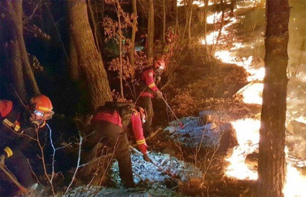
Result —
[[232, 157], [227, 159], [231, 164], [225, 174], [238, 179], [256, 180], [257, 172], [247, 168], [244, 160], [248, 154], [258, 148], [255, 144], [259, 142], [260, 120], [246, 118], [233, 121], [231, 124], [236, 130], [239, 146], [234, 150]]

